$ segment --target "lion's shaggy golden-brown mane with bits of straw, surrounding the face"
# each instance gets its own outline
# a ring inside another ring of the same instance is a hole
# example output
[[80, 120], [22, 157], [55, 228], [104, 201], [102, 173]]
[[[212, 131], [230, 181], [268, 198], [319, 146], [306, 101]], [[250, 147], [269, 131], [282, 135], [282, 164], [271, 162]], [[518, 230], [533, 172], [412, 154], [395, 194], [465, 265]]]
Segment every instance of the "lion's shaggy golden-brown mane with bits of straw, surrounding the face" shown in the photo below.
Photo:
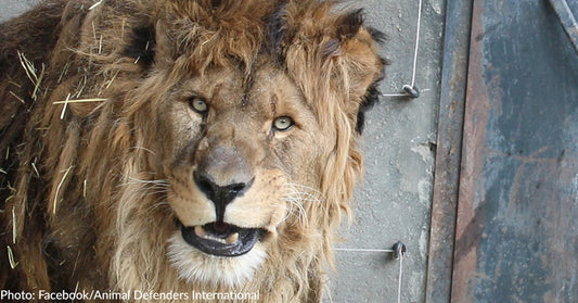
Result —
[[319, 302], [384, 65], [381, 34], [335, 4], [51, 0], [0, 25], [0, 286], [230, 291], [183, 281], [169, 265], [175, 216], [149, 149], [162, 136], [155, 113], [167, 81], [158, 79], [235, 65], [251, 81], [266, 56], [310, 102], [332, 148], [319, 203], [287, 218], [265, 264], [234, 291]]

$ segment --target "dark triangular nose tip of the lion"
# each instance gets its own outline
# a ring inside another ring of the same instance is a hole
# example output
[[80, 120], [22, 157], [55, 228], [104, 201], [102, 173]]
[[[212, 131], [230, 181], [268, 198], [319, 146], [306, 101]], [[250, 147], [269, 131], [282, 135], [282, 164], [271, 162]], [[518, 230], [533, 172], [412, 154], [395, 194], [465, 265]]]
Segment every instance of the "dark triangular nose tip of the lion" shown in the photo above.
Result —
[[245, 193], [245, 191], [253, 185], [254, 180], [251, 179], [247, 182], [220, 186], [210, 175], [200, 172], [193, 173], [193, 178], [198, 189], [215, 204], [217, 222], [223, 220], [224, 209], [227, 205], [235, 198], [243, 195], [243, 193]]

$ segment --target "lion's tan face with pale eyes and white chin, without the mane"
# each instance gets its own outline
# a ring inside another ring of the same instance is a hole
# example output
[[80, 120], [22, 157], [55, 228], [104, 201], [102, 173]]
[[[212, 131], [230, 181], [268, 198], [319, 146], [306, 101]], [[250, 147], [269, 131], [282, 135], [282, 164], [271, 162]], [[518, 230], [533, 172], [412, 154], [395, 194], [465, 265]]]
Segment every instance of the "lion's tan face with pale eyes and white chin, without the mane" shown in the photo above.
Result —
[[259, 64], [249, 80], [209, 70], [160, 97], [157, 149], [178, 220], [170, 255], [187, 280], [249, 278], [280, 226], [314, 200], [331, 144], [298, 89], [272, 66]]

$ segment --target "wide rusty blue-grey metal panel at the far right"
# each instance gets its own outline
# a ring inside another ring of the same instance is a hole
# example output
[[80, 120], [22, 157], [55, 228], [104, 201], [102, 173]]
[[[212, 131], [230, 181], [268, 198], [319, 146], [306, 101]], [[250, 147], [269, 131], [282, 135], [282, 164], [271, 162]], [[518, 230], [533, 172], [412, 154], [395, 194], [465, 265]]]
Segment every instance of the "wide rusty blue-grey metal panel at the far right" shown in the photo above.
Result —
[[452, 302], [578, 302], [578, 56], [548, 1], [474, 1], [467, 83]]

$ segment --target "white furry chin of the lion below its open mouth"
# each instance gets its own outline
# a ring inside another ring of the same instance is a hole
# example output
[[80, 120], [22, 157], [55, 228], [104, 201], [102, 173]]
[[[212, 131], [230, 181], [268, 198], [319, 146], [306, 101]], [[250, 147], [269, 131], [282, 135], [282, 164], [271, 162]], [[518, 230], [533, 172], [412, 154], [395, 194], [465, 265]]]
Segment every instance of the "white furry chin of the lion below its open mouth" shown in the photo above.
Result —
[[179, 231], [169, 241], [170, 262], [179, 277], [189, 283], [240, 287], [254, 277], [267, 257], [260, 242], [245, 254], [229, 257], [206, 254], [191, 247]]

